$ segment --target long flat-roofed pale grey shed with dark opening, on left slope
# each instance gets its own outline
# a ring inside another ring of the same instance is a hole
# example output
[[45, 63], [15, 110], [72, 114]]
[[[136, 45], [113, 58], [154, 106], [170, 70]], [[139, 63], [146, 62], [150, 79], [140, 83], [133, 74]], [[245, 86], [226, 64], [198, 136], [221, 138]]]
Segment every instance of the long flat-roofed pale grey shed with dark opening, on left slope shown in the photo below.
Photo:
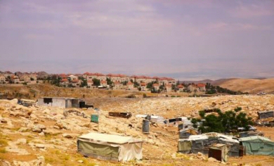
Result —
[[79, 98], [38, 98], [38, 105], [60, 108], [79, 108]]

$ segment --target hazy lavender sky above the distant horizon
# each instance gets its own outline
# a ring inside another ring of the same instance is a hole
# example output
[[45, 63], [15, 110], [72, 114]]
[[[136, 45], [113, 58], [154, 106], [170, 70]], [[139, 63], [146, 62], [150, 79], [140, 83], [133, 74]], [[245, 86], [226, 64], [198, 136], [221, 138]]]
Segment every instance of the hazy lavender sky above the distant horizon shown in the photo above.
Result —
[[0, 0], [0, 70], [274, 77], [274, 1]]

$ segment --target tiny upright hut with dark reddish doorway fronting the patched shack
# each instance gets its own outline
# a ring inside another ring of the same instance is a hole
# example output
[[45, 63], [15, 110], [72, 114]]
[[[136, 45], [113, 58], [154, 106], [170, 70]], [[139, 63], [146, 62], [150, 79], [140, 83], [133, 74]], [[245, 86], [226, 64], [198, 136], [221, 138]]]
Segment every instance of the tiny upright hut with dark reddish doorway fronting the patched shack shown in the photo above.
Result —
[[221, 162], [228, 161], [228, 146], [222, 143], [216, 143], [209, 147], [209, 158], [216, 158]]

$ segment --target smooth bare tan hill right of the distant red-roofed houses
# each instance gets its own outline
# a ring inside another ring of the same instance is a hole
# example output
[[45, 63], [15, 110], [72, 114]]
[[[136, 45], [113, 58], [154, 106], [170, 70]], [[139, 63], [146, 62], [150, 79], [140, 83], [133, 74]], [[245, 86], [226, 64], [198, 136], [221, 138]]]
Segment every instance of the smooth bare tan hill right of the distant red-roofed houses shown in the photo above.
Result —
[[227, 79], [223, 82], [214, 82], [213, 84], [233, 91], [248, 92], [249, 94], [256, 94], [260, 91], [274, 94], [274, 78]]

